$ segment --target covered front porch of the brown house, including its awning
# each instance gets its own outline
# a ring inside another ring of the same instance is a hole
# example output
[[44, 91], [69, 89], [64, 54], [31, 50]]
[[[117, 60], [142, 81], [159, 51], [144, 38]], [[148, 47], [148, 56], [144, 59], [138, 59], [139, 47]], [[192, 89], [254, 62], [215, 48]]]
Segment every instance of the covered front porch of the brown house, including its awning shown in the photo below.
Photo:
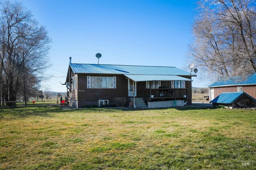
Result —
[[[174, 75], [131, 75], [125, 76], [134, 82], [128, 90], [135, 92], [136, 98], [146, 102], [184, 100], [186, 101], [191, 88], [188, 78]], [[128, 82], [129, 83], [129, 82]], [[129, 84], [130, 85], [130, 84]], [[135, 89], [133, 89], [133, 87]]]

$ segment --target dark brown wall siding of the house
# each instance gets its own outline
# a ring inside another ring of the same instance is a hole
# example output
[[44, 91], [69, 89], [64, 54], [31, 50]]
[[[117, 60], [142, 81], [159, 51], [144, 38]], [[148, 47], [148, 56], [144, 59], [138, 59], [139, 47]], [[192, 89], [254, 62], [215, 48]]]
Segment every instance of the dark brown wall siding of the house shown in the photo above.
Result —
[[[113, 77], [116, 76], [116, 88], [87, 88], [87, 76], [100, 76], [100, 77]], [[191, 79], [190, 76], [183, 76], [184, 78]], [[70, 105], [76, 108], [83, 108], [84, 106], [97, 105], [99, 100], [109, 100], [109, 104], [112, 104], [114, 97], [125, 97], [128, 96], [128, 79], [124, 75], [114, 75], [114, 74], [74, 74], [71, 72], [71, 78], [74, 80], [76, 78], [76, 89], [71, 89], [70, 94]], [[169, 84], [168, 84], [169, 82]], [[162, 81], [161, 86], [166, 85], [166, 87], [171, 87], [171, 81]], [[72, 88], [72, 84], [71, 84]], [[146, 89], [146, 81], [137, 82], [137, 98], [140, 97], [140, 92]], [[186, 102], [188, 105], [192, 104], [192, 83], [191, 81], [186, 81], [186, 89], [182, 90], [182, 94], [176, 93], [174, 97], [180, 95], [187, 95]], [[187, 94], [186, 94], [187, 93]], [[128, 106], [128, 102], [127, 102]]]

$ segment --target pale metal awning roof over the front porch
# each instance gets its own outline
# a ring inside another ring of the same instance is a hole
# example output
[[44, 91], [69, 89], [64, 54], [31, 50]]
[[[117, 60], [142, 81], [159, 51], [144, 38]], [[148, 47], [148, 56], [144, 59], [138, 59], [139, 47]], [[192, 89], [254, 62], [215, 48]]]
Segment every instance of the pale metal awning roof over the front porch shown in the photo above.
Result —
[[184, 81], [192, 81], [188, 78], [180, 77], [180, 76], [168, 76], [168, 75], [134, 75], [134, 74], [124, 74], [124, 76], [136, 81], [154, 81], [154, 80], [184, 80]]

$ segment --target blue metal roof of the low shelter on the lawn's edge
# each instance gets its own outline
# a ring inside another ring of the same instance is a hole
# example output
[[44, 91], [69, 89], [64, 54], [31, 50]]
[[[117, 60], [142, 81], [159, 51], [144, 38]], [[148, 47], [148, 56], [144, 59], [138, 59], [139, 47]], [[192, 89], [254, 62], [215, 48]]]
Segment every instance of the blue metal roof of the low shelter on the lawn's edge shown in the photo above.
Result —
[[214, 100], [210, 101], [210, 103], [232, 104], [234, 101], [236, 101], [244, 94], [256, 101], [256, 99], [254, 99], [252, 96], [248, 95], [245, 92], [229, 92], [220, 94]]

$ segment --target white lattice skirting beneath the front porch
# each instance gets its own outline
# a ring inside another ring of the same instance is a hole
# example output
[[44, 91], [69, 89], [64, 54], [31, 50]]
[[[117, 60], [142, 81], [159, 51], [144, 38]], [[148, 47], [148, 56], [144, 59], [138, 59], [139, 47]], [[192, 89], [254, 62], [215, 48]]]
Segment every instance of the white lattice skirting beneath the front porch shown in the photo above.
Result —
[[148, 102], [148, 108], [184, 106], [184, 100]]

